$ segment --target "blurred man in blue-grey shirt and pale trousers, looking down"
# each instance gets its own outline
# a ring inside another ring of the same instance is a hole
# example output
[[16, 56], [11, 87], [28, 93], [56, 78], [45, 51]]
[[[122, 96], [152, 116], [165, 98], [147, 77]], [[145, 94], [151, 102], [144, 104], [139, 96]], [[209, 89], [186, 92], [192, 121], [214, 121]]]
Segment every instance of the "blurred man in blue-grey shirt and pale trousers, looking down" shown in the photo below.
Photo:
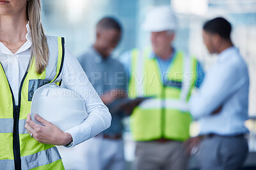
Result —
[[122, 141], [124, 111], [116, 107], [126, 97], [125, 72], [122, 64], [111, 57], [120, 41], [122, 28], [115, 18], [102, 18], [96, 26], [96, 41], [79, 62], [112, 115], [111, 127], [77, 147], [80, 160], [77, 169], [124, 169], [124, 145]]

